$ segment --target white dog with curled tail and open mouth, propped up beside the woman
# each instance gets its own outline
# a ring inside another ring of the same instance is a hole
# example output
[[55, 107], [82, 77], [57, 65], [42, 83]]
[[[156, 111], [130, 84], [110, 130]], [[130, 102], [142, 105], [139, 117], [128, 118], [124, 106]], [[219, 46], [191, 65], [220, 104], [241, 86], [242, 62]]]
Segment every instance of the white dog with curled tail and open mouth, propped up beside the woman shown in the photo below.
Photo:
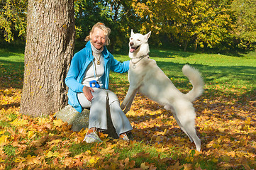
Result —
[[191, 102], [203, 94], [204, 80], [198, 70], [187, 64], [184, 65], [182, 72], [189, 78], [193, 89], [187, 94], [182, 94], [157, 66], [155, 60], [148, 56], [150, 34], [151, 32], [142, 35], [133, 33], [131, 30], [129, 42], [130, 69], [128, 72], [130, 86], [121, 108], [125, 109], [124, 112], [127, 113], [139, 91], [164, 106], [168, 111], [172, 111], [179, 127], [189, 136], [191, 142], [194, 141], [196, 149], [200, 151], [201, 141], [195, 130], [196, 113]]

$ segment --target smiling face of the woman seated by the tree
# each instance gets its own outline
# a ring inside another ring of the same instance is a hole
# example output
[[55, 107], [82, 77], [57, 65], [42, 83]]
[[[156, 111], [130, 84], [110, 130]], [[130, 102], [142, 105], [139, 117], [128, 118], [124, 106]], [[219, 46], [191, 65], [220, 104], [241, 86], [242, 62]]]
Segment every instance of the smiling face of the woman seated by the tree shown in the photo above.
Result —
[[94, 32], [91, 33], [91, 44], [96, 47], [97, 50], [100, 50], [101, 47], [105, 45], [106, 42], [106, 35], [104, 33], [104, 30], [101, 30], [100, 28], [94, 28]]

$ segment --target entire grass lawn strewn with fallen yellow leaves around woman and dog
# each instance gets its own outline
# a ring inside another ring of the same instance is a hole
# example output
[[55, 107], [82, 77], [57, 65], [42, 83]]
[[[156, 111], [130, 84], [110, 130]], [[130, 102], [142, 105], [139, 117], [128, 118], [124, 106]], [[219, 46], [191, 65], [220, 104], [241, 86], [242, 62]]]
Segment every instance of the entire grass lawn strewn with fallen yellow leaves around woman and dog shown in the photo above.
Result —
[[[0, 169], [255, 169], [256, 53], [199, 54], [150, 51], [150, 57], [177, 88], [187, 93], [182, 66], [199, 69], [204, 94], [194, 102], [201, 152], [179, 129], [172, 113], [137, 94], [127, 113], [130, 143], [101, 134], [102, 143], [82, 142], [86, 130], [18, 113], [23, 84], [23, 52], [0, 48]], [[127, 52], [128, 53], [128, 52]], [[127, 55], [114, 55], [129, 60]], [[127, 74], [111, 73], [110, 89], [120, 101]]]

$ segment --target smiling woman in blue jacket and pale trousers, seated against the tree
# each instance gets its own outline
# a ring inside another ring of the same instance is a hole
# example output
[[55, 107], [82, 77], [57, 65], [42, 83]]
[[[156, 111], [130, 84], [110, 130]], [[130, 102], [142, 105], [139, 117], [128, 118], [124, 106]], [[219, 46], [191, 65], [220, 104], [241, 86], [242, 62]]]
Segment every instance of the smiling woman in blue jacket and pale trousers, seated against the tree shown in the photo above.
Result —
[[128, 140], [126, 132], [132, 126], [120, 108], [116, 94], [108, 90], [109, 71], [128, 72], [129, 62], [118, 62], [106, 49], [108, 35], [111, 33], [104, 23], [96, 23], [87, 36], [87, 45], [77, 52], [70, 64], [65, 83], [69, 87], [69, 105], [78, 112], [90, 108], [89, 130], [84, 137], [87, 143], [101, 142], [98, 130], [107, 129], [107, 107], [116, 133]]

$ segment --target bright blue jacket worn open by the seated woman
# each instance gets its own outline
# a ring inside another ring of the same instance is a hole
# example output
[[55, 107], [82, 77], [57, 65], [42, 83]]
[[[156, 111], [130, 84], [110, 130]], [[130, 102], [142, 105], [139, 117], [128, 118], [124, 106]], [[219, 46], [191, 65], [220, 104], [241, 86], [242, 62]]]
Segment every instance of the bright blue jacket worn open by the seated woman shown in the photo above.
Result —
[[[113, 58], [110, 52], [104, 46], [104, 50], [101, 52], [104, 57], [104, 75], [101, 77], [103, 89], [108, 89], [108, 79], [110, 69], [113, 72], [124, 73], [129, 70], [129, 61], [118, 62]], [[94, 60], [94, 56], [91, 51], [91, 42], [87, 42], [87, 45], [74, 54], [72, 58], [69, 72], [65, 79], [65, 84], [69, 87], [67, 96], [69, 98], [69, 105], [73, 106], [78, 112], [82, 112], [82, 106], [80, 105], [77, 93], [83, 92], [84, 85], [82, 84], [82, 79], [84, 77], [84, 72], [86, 71], [88, 65]]]

